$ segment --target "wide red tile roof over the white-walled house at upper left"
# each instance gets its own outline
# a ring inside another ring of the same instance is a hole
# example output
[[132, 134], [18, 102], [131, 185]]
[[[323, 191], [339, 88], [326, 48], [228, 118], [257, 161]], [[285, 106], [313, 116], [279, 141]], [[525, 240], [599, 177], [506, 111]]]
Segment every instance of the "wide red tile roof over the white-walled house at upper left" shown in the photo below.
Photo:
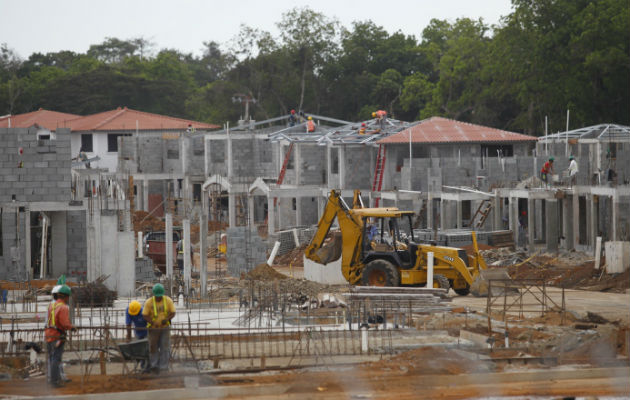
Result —
[[188, 125], [204, 130], [219, 128], [219, 125], [136, 111], [127, 107], [77, 118], [68, 123], [68, 126], [73, 131], [133, 131], [136, 129], [136, 121], [139, 130], [186, 130]]

